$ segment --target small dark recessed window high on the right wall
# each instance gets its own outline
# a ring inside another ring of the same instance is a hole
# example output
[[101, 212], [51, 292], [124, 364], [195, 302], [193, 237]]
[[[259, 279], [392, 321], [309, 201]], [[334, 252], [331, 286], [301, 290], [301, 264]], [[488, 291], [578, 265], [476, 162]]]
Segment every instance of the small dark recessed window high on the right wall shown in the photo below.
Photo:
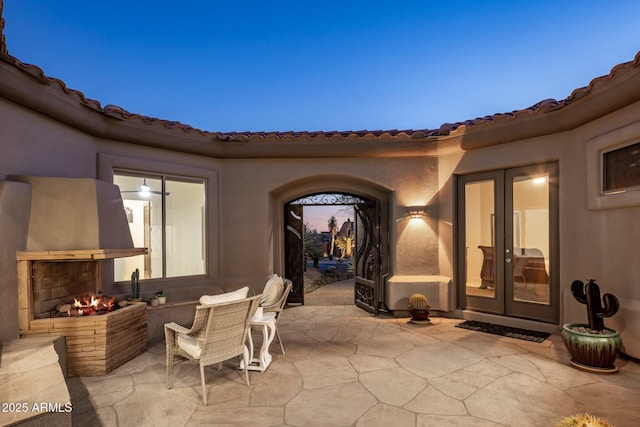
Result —
[[640, 142], [602, 153], [605, 193], [640, 188]]

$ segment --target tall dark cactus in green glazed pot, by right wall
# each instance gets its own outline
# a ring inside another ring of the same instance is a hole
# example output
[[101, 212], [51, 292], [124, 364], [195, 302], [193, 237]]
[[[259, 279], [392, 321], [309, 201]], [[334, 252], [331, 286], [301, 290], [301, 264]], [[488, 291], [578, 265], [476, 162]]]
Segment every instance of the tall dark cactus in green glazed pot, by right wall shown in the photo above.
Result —
[[575, 280], [571, 294], [587, 307], [589, 324], [567, 323], [562, 327], [562, 340], [571, 354], [571, 365], [594, 373], [615, 373], [622, 340], [620, 332], [604, 326], [604, 318], [618, 312], [620, 304], [612, 294], [600, 298], [600, 287], [590, 279], [587, 284]]

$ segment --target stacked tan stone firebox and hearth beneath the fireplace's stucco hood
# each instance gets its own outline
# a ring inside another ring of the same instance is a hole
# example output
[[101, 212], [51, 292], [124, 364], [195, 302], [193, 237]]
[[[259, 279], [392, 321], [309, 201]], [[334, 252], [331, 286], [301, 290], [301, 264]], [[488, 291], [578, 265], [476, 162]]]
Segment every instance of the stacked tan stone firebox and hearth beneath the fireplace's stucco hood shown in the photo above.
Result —
[[65, 337], [69, 376], [105, 375], [144, 352], [145, 303], [99, 315], [55, 315], [57, 304], [100, 292], [102, 260], [141, 253], [146, 249], [18, 252], [20, 335]]

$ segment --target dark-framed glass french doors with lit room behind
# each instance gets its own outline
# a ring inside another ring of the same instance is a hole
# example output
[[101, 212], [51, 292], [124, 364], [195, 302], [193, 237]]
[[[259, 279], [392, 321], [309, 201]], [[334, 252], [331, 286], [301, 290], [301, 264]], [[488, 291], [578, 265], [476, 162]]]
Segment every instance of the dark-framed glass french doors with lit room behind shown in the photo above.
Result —
[[559, 321], [556, 163], [457, 177], [462, 307]]

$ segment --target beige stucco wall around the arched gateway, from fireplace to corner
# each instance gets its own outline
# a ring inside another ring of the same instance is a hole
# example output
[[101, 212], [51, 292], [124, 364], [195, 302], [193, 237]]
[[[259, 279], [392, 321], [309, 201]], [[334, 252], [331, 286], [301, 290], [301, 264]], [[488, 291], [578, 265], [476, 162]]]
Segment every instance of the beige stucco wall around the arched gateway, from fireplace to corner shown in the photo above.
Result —
[[[267, 275], [283, 271], [278, 212], [284, 200], [275, 200], [273, 192], [284, 188], [302, 196], [307, 194], [305, 188], [318, 180], [327, 182], [327, 177], [341, 185], [350, 183], [341, 188], [327, 184], [324, 189], [328, 191], [342, 189], [375, 197], [379, 196], [376, 192], [384, 194], [393, 274], [439, 274], [437, 206], [418, 221], [409, 221], [406, 209], [437, 200], [437, 159], [433, 157], [218, 160], [96, 138], [4, 100], [0, 100], [0, 120], [1, 179], [41, 175], [111, 181], [113, 168], [122, 168], [208, 180], [209, 275], [165, 279], [150, 284], [148, 291], [163, 288], [181, 299], [208, 289], [217, 292], [216, 286], [231, 290], [249, 284], [259, 292]], [[301, 179], [307, 184], [296, 183]], [[18, 248], [24, 249], [19, 242], [1, 249], [0, 258], [10, 269], [15, 269]], [[14, 285], [9, 280], [3, 286]], [[128, 292], [127, 284], [113, 283], [111, 261], [104, 262], [102, 287], [109, 294]], [[15, 327], [10, 329], [9, 335], [14, 335]]]

